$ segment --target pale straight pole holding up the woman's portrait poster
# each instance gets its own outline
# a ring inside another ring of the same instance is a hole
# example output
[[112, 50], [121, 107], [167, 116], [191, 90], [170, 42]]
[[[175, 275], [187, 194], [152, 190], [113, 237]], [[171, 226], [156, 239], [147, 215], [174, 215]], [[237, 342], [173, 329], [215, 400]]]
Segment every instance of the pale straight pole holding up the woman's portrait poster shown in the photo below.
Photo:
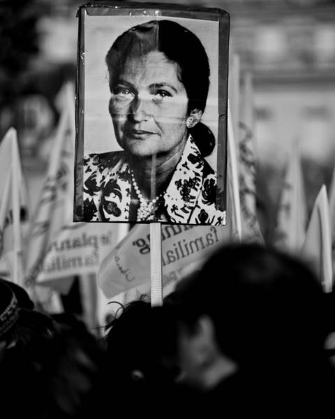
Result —
[[151, 307], [163, 305], [161, 223], [150, 223]]

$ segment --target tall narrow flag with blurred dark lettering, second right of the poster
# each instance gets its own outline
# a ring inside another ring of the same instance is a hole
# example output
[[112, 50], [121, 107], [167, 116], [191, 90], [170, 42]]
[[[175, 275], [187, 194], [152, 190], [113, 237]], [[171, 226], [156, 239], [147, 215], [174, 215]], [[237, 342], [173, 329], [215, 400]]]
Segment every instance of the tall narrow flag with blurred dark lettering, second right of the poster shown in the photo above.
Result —
[[256, 159], [253, 145], [254, 115], [251, 73], [244, 75], [239, 117], [239, 198], [242, 240], [264, 244], [256, 210]]

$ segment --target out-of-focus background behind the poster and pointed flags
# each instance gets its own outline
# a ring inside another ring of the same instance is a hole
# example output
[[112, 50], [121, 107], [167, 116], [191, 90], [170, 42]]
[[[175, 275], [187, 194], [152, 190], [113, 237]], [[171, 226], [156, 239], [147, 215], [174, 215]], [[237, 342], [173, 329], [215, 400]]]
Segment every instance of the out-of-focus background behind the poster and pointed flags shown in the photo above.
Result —
[[[31, 208], [38, 202], [59, 119], [75, 80], [77, 0], [0, 1], [0, 135], [15, 126]], [[139, 2], [141, 3], [141, 2]], [[170, 3], [170, 1], [168, 2]], [[288, 153], [301, 143], [308, 212], [335, 161], [335, 1], [174, 1], [231, 17], [230, 52], [255, 89], [258, 216], [274, 235]]]

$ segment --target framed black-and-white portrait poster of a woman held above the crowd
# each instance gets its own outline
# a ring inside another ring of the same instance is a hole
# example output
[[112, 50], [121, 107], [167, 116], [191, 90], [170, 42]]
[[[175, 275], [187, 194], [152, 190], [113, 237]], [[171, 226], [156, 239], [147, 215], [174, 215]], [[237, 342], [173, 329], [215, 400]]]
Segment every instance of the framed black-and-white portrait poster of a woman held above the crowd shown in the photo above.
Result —
[[229, 15], [78, 10], [74, 221], [225, 225]]

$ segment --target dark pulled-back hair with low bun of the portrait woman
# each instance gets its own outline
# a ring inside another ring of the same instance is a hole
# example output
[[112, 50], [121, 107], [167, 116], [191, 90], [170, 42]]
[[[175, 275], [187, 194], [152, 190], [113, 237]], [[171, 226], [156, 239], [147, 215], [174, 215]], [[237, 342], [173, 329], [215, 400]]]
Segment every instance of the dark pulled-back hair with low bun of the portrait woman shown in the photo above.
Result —
[[[188, 96], [188, 112], [204, 111], [209, 90], [209, 61], [198, 38], [180, 24], [171, 20], [152, 20], [139, 24], [121, 34], [107, 52], [106, 64], [110, 75], [110, 91], [129, 55], [142, 56], [151, 51], [163, 52], [178, 64], [179, 80]], [[198, 122], [189, 128], [202, 156], [214, 149], [215, 138], [210, 129]]]

